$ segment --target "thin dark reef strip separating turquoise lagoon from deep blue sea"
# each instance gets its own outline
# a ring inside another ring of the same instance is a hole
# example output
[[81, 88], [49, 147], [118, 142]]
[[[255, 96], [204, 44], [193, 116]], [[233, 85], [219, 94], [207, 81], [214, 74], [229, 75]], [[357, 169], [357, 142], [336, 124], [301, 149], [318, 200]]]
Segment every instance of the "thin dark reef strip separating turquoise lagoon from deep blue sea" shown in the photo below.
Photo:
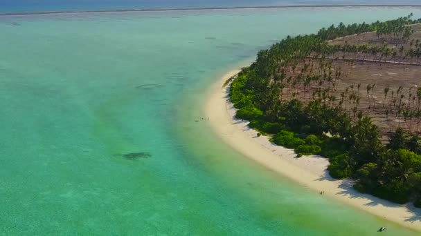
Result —
[[402, 5], [292, 5], [292, 6], [238, 6], [215, 8], [145, 8], [145, 9], [114, 9], [114, 10], [62, 10], [45, 12], [0, 12], [0, 17], [26, 16], [43, 14], [74, 14], [74, 13], [112, 13], [112, 12], [171, 12], [171, 11], [197, 11], [197, 10], [242, 10], [242, 9], [277, 9], [277, 8], [421, 8], [421, 4]]

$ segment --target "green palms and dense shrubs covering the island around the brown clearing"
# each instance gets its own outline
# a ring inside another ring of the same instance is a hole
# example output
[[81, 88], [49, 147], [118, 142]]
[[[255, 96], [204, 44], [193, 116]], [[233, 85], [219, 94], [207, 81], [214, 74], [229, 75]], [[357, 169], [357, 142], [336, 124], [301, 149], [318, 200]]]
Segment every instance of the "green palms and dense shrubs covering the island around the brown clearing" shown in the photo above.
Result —
[[[260, 51], [256, 62], [243, 68], [231, 83], [230, 97], [239, 109], [237, 117], [249, 120], [249, 126], [261, 134], [272, 135], [275, 144], [294, 148], [297, 157], [319, 154], [330, 159], [330, 175], [355, 179], [355, 188], [361, 192], [401, 204], [413, 198], [415, 206], [420, 206], [418, 132], [397, 128], [391, 132], [387, 144], [382, 142], [382, 133], [369, 114], [370, 107], [375, 106], [374, 101], [370, 104], [370, 91], [375, 84], [361, 88], [366, 90], [369, 103], [369, 108], [364, 110], [359, 108], [360, 97], [355, 92], [361, 84], [346, 91], [337, 90], [341, 76], [346, 73], [343, 67], [352, 63], [352, 59], [348, 58], [339, 70], [332, 70], [338, 53], [342, 57], [357, 53], [377, 59], [404, 57], [400, 48], [413, 33], [406, 25], [421, 22], [411, 17], [349, 26], [340, 23], [323, 28], [316, 35], [287, 37], [269, 50]], [[328, 43], [337, 37], [369, 31], [375, 31], [385, 45], [393, 41], [397, 46], [395, 51], [386, 46]], [[405, 57], [420, 57], [421, 53], [415, 51], [411, 45]], [[411, 122], [420, 124], [421, 89], [412, 91], [408, 104], [403, 102], [405, 95], [401, 87], [397, 91], [389, 90], [385, 88], [382, 110], [386, 117], [395, 115], [400, 119], [406, 112], [406, 118], [412, 115]], [[386, 95], [391, 93], [388, 101]]]

